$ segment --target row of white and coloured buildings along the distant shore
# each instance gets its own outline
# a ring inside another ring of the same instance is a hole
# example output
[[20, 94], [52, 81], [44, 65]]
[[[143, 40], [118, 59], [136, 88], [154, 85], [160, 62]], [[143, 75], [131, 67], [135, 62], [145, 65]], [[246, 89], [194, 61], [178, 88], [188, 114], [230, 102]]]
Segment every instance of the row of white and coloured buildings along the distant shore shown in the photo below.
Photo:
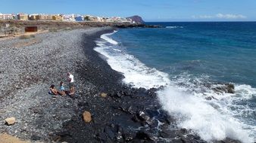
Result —
[[96, 17], [80, 14], [1, 14], [0, 20], [55, 20], [70, 22], [102, 22], [102, 23], [136, 23], [130, 18], [123, 17]]

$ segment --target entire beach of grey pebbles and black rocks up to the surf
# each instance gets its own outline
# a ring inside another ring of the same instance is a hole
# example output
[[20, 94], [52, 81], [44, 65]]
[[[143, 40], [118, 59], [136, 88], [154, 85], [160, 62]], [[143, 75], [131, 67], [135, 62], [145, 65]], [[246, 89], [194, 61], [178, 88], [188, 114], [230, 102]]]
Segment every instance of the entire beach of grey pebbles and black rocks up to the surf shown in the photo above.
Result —
[[[174, 117], [161, 109], [157, 89], [123, 85], [123, 75], [93, 50], [95, 40], [113, 30], [42, 33], [26, 47], [14, 45], [31, 39], [2, 41], [0, 133], [43, 142], [205, 142], [176, 126]], [[48, 94], [51, 84], [66, 82], [68, 71], [75, 77], [76, 94]], [[84, 111], [92, 114], [89, 123]], [[16, 123], [7, 126], [7, 117], [16, 117]]]

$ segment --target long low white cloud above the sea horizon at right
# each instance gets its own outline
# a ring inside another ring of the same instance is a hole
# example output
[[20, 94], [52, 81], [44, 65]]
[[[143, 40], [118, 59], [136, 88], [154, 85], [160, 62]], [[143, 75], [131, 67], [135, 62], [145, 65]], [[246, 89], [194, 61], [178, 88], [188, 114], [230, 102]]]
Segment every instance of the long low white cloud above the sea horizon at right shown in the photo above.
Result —
[[239, 20], [245, 19], [242, 14], [216, 14], [216, 15], [200, 15], [200, 16], [192, 16], [193, 19], [226, 19], [226, 20]]

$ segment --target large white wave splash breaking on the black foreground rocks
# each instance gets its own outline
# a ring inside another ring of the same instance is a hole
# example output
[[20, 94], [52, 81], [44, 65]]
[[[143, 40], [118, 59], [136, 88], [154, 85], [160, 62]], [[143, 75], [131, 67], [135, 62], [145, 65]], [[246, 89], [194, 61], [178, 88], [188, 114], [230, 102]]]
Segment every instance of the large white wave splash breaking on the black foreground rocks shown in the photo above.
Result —
[[158, 92], [158, 98], [163, 108], [179, 120], [180, 127], [192, 129], [206, 141], [229, 137], [245, 143], [253, 142], [249, 126], [234, 118], [226, 105], [195, 94], [186, 93], [179, 87], [167, 87]]

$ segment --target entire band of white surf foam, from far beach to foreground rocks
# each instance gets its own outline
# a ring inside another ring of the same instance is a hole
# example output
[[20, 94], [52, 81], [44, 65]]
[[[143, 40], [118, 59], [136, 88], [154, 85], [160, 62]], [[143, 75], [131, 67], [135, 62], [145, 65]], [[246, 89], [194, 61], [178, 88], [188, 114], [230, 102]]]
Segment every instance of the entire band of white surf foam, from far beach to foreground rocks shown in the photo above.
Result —
[[[124, 75], [123, 82], [132, 87], [165, 86], [164, 90], [158, 91], [158, 99], [163, 108], [176, 117], [181, 128], [192, 129], [206, 141], [223, 140], [225, 138], [238, 139], [244, 143], [255, 141], [256, 126], [248, 125], [239, 110], [232, 110], [236, 105], [233, 102], [251, 99], [256, 95], [256, 90], [248, 85], [236, 85], [236, 94], [217, 94], [213, 90], [198, 92], [203, 87], [180, 87], [176, 82], [187, 85], [189, 77], [182, 75], [181, 79], [170, 81], [169, 75], [155, 68], [148, 68], [136, 59], [135, 56], [127, 54], [118, 48], [118, 42], [109, 35], [101, 35], [102, 41], [97, 41], [95, 50], [107, 57], [107, 62], [116, 71]], [[202, 79], [194, 81], [203, 82]], [[214, 96], [212, 100], [205, 97]], [[242, 106], [242, 111], [254, 110]], [[250, 113], [249, 113], [250, 114]]]

